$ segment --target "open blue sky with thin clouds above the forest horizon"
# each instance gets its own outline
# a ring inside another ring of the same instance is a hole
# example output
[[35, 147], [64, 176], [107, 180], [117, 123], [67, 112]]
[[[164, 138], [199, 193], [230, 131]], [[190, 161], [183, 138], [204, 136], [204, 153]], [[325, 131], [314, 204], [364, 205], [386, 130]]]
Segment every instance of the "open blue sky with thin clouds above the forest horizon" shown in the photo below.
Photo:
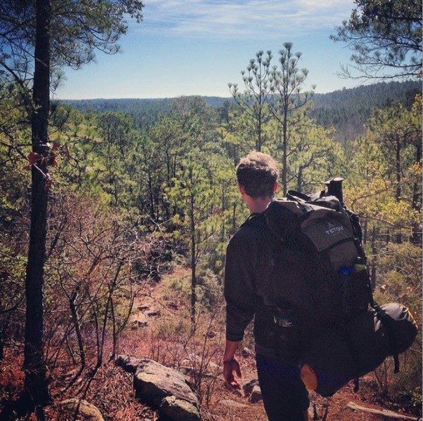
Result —
[[229, 97], [228, 83], [257, 51], [274, 64], [287, 41], [309, 70], [305, 88], [325, 93], [360, 84], [340, 79], [351, 51], [329, 36], [349, 18], [353, 0], [145, 0], [143, 22], [128, 21], [122, 53], [96, 54], [80, 70], [65, 70], [57, 99]]

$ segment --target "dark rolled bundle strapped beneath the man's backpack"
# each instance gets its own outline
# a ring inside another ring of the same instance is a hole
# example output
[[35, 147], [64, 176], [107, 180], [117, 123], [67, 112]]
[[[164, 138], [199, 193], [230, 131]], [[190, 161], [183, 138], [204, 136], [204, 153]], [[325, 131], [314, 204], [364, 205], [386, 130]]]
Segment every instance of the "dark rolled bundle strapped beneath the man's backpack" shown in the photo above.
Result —
[[412, 345], [418, 328], [408, 308], [396, 302], [380, 308], [389, 316], [389, 328], [372, 309], [349, 320], [346, 329], [327, 330], [307, 347], [301, 368], [307, 389], [332, 396], [350, 380], [375, 370], [387, 356], [401, 354]]

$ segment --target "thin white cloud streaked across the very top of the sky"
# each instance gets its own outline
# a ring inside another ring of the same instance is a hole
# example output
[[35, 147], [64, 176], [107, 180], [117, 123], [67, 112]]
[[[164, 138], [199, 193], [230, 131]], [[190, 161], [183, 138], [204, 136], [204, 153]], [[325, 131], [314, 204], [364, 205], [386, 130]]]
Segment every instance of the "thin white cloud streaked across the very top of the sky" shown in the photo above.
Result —
[[145, 0], [142, 32], [241, 38], [332, 29], [352, 0]]

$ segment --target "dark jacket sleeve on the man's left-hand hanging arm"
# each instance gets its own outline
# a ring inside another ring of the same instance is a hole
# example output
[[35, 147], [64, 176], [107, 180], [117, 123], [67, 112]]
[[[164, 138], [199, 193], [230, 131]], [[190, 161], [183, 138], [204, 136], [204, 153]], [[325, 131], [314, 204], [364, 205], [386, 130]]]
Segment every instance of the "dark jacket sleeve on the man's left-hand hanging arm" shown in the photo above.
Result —
[[237, 234], [228, 243], [225, 264], [226, 339], [232, 341], [244, 338], [256, 312], [256, 253], [252, 242]]

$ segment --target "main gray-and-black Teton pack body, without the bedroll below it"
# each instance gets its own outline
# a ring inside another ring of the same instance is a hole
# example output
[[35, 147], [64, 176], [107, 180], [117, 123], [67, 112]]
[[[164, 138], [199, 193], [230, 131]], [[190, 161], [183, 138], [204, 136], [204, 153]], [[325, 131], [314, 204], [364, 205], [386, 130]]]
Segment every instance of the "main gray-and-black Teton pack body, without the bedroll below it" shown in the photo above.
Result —
[[[274, 253], [292, 248], [297, 251], [299, 270], [304, 274], [303, 294], [297, 296], [297, 305], [301, 307], [301, 302], [313, 296], [313, 316], [322, 322], [325, 316], [317, 313], [328, 309], [328, 317], [332, 314], [347, 318], [367, 310], [372, 302], [372, 289], [358, 217], [337, 197], [290, 191], [286, 198], [271, 202], [263, 216], [273, 237]], [[275, 259], [275, 278], [284, 271], [278, 262], [285, 264], [283, 258]], [[273, 295], [287, 298], [287, 286], [278, 281], [275, 285]], [[325, 324], [329, 322], [328, 319]]]

